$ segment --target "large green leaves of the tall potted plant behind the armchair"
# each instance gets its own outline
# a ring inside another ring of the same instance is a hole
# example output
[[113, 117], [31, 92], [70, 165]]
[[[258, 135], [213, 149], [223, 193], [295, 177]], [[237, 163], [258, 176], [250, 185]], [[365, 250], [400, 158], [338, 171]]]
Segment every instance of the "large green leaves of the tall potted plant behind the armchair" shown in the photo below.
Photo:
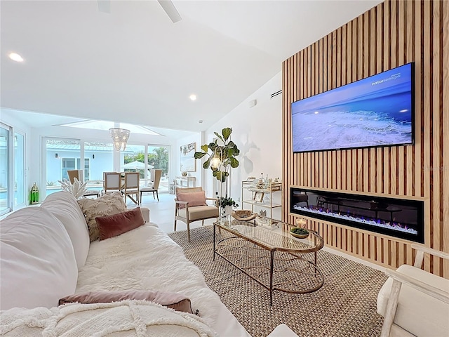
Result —
[[[229, 140], [232, 128], [223, 128], [221, 135], [217, 132], [214, 133], [223, 145], [218, 145], [218, 140], [215, 140], [213, 143], [201, 145], [201, 152], [195, 152], [194, 157], [195, 159], [201, 159], [208, 155], [209, 158], [204, 162], [203, 168], [208, 169], [210, 167], [212, 175], [217, 180], [225, 183], [227, 181], [226, 178], [229, 176], [229, 166], [233, 169], [239, 166], [239, 161], [236, 159], [236, 156], [240, 154], [240, 150], [232, 140]], [[209, 150], [212, 153], [208, 153]]]

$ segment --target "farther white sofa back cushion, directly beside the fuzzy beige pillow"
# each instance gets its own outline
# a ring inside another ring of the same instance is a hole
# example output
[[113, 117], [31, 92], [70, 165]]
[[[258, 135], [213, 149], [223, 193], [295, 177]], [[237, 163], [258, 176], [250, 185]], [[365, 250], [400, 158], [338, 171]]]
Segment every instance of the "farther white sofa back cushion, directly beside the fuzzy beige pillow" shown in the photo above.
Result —
[[81, 268], [89, 253], [89, 231], [83, 212], [76, 198], [69, 192], [56, 192], [48, 195], [41, 207], [50, 211], [64, 225], [75, 252], [76, 265]]

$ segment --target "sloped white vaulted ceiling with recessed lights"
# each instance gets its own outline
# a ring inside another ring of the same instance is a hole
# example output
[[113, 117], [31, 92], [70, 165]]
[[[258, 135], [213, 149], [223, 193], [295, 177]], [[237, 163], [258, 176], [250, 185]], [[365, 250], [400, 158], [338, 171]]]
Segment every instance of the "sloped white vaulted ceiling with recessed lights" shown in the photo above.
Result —
[[91, 0], [1, 0], [0, 105], [202, 131], [380, 2], [173, 1], [173, 23], [157, 1], [112, 0], [102, 13]]

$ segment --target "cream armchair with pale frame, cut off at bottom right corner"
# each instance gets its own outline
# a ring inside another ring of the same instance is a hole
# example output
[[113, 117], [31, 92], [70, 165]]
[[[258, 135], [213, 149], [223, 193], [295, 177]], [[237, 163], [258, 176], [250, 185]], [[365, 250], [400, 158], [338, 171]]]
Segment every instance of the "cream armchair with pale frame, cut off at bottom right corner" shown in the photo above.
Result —
[[449, 279], [421, 269], [424, 253], [449, 259], [449, 253], [419, 244], [415, 264], [387, 270], [389, 277], [377, 296], [384, 317], [381, 337], [449, 336]]

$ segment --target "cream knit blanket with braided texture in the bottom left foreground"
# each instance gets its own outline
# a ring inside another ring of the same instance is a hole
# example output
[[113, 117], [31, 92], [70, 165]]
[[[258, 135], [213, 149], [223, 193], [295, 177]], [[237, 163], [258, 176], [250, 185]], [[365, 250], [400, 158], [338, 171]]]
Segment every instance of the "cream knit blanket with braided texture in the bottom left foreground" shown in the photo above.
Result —
[[201, 318], [145, 300], [14, 308], [0, 319], [1, 336], [217, 336]]

